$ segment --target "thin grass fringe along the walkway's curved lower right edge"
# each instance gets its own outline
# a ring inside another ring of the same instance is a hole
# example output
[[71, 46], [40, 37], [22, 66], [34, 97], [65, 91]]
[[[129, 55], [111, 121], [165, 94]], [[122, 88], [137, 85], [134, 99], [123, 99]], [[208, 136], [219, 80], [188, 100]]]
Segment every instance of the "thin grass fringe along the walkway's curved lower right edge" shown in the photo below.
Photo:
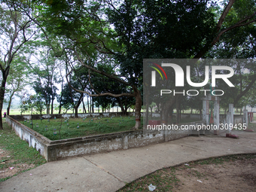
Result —
[[[175, 190], [175, 187], [178, 187], [182, 183], [179, 181], [179, 179], [176, 176], [176, 171], [179, 169], [191, 169], [194, 168], [194, 166], [200, 164], [215, 164], [220, 165], [224, 162], [228, 161], [234, 161], [234, 160], [250, 160], [255, 159], [255, 154], [235, 154], [235, 155], [228, 155], [224, 157], [215, 157], [215, 158], [209, 158], [207, 160], [198, 160], [194, 162], [190, 162], [189, 166], [181, 165], [181, 166], [173, 166], [169, 168], [163, 168], [160, 170], [157, 170], [156, 172], [153, 172], [149, 175], [145, 175], [142, 178], [138, 178], [136, 181], [132, 181], [129, 184], [126, 184], [126, 186], [120, 188], [119, 192], [124, 191], [149, 191], [148, 185], [153, 184], [157, 186], [156, 190], [154, 191], [173, 191]], [[192, 175], [194, 175], [197, 178], [205, 178], [206, 175], [204, 173], [198, 172], [197, 170], [191, 170]], [[186, 175], [189, 176], [189, 175]], [[208, 178], [206, 178], [208, 180]], [[182, 184], [183, 185], [183, 184]]]

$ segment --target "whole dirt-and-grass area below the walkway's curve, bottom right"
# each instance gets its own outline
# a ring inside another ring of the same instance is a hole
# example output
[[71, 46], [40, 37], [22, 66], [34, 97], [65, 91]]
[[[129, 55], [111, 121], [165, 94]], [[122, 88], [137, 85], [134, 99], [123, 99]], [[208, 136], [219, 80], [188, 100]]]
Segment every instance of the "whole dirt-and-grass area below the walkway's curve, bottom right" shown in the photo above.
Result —
[[213, 192], [256, 191], [256, 155], [209, 158], [163, 168], [126, 184], [121, 191]]

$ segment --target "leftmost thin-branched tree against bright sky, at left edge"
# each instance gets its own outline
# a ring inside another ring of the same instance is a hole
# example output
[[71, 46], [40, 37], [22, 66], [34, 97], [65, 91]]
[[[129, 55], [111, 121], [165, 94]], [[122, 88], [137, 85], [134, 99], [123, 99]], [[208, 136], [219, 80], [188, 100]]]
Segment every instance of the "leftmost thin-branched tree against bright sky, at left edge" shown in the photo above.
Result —
[[[0, 5], [0, 34], [2, 48], [0, 51], [0, 69], [2, 73], [0, 87], [0, 114], [5, 99], [5, 87], [13, 67], [14, 60], [23, 52], [26, 42], [30, 41], [36, 29], [32, 28], [32, 20], [20, 13], [16, 6], [4, 3]], [[0, 118], [0, 130], [2, 130], [2, 118]]]

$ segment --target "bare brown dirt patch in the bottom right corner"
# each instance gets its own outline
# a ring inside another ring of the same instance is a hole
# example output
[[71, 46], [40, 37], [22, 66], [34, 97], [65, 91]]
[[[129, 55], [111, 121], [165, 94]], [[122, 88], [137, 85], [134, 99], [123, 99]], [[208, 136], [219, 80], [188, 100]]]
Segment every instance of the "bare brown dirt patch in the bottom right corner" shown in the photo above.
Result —
[[176, 167], [172, 191], [256, 191], [256, 159]]

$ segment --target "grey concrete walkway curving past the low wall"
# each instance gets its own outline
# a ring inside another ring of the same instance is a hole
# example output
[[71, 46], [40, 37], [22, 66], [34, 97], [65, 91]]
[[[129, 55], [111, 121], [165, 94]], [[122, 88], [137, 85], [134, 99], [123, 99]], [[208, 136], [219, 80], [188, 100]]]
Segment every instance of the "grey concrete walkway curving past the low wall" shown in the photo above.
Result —
[[0, 183], [0, 191], [115, 191], [165, 166], [227, 154], [256, 153], [256, 133], [235, 134], [239, 139], [190, 136], [142, 148], [58, 160]]

